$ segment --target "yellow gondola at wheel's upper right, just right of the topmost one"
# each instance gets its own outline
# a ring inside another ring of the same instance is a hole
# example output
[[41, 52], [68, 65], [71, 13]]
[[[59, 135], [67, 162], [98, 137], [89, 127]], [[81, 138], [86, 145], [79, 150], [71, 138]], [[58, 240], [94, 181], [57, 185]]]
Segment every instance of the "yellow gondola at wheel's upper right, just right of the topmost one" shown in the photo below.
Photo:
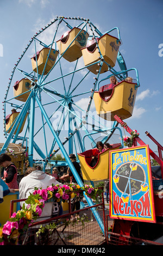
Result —
[[[87, 43], [87, 46], [82, 48], [85, 66], [91, 65], [99, 61], [100, 53], [97, 44], [104, 58], [104, 61], [108, 63], [110, 66], [114, 67], [117, 59], [118, 50], [120, 47], [120, 41], [118, 41], [117, 38], [109, 34], [104, 34], [101, 36], [101, 38], [89, 41]], [[108, 71], [108, 65], [106, 63], [103, 63], [101, 73]], [[87, 69], [89, 69], [93, 74], [97, 74], [99, 66], [98, 64], [94, 64], [91, 66], [87, 66]]]

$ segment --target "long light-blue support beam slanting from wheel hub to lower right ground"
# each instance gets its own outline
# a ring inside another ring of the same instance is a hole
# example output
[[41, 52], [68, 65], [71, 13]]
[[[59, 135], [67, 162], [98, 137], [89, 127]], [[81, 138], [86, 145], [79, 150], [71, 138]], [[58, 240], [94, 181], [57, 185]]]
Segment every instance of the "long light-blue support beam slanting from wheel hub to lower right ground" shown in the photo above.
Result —
[[[42, 106], [42, 104], [41, 104], [41, 102], [40, 102], [40, 100], [39, 100], [39, 97], [38, 97], [36, 94], [35, 94], [35, 99], [36, 99], [37, 104], [39, 105], [39, 107], [40, 107], [40, 109], [41, 109], [41, 112], [42, 112], [43, 116], [45, 117], [45, 119], [46, 119], [46, 121], [47, 121], [47, 124], [48, 124], [48, 126], [49, 126], [49, 129], [51, 130], [51, 132], [52, 132], [54, 138], [56, 139], [56, 141], [57, 141], [57, 143], [58, 143], [58, 145], [59, 145], [59, 148], [60, 148], [61, 151], [62, 151], [62, 154], [64, 155], [64, 157], [65, 157], [65, 159], [66, 159], [66, 162], [67, 162], [68, 166], [69, 166], [70, 169], [72, 170], [72, 173], [73, 173], [73, 175], [74, 175], [74, 178], [77, 180], [77, 183], [79, 184], [79, 186], [82, 187], [82, 186], [83, 186], [83, 182], [82, 182], [82, 180], [80, 179], [79, 174], [77, 173], [76, 169], [74, 168], [74, 166], [73, 166], [73, 164], [72, 164], [72, 162], [71, 162], [71, 160], [70, 160], [70, 157], [69, 157], [68, 154], [67, 154], [67, 151], [65, 150], [64, 146], [62, 145], [62, 143], [61, 143], [61, 141], [60, 141], [60, 138], [57, 136], [57, 133], [54, 131], [53, 126], [52, 126], [52, 123], [51, 123], [51, 121], [49, 120], [48, 115], [46, 114], [46, 111], [45, 111], [45, 109], [43, 108], [43, 106]], [[92, 200], [91, 200], [90, 198], [88, 198], [86, 195], [85, 195], [85, 198], [86, 198], [87, 203], [89, 204], [89, 206], [93, 206], [93, 205], [94, 205], [93, 202], [92, 202]], [[95, 216], [95, 218], [96, 218], [96, 220], [97, 220], [99, 226], [101, 227], [101, 229], [102, 229], [102, 231], [103, 231], [103, 233], [104, 233], [104, 225], [103, 225], [103, 223], [102, 223], [101, 217], [99, 216], [98, 212], [97, 212], [94, 208], [92, 208], [91, 210], [92, 210], [93, 215]]]

